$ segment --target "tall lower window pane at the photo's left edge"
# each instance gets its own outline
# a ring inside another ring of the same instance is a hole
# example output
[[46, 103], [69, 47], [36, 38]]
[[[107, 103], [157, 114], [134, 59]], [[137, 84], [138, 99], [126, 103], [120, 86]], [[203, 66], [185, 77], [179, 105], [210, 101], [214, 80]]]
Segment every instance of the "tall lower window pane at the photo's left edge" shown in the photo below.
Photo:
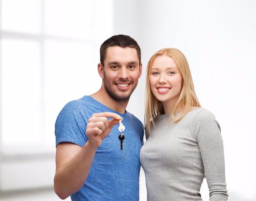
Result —
[[1, 54], [2, 142], [37, 142], [41, 137], [39, 44], [2, 40]]

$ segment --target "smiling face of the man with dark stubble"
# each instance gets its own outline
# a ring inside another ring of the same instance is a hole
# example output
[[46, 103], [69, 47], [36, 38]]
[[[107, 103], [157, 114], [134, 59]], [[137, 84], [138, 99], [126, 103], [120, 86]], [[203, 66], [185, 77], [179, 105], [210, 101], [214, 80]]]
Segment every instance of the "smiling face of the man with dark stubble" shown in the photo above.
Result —
[[113, 100], [129, 100], [141, 76], [141, 64], [135, 48], [107, 48], [103, 67], [103, 84]]

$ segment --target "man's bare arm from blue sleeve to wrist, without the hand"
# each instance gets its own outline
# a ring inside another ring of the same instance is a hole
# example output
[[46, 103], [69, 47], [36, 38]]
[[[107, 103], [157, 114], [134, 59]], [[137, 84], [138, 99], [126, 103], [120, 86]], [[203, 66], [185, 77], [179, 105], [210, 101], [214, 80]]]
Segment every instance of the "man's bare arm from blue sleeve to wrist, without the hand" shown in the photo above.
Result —
[[96, 150], [89, 141], [84, 147], [70, 142], [57, 145], [54, 190], [61, 199], [66, 199], [83, 186]]

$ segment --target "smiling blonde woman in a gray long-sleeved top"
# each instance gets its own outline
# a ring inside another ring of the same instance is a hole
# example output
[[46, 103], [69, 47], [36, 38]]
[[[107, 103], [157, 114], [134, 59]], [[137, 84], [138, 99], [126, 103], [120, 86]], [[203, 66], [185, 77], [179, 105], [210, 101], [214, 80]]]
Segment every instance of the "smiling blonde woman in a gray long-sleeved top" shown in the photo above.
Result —
[[227, 200], [224, 152], [214, 115], [197, 100], [185, 56], [165, 48], [148, 62], [145, 127], [140, 150], [149, 201]]

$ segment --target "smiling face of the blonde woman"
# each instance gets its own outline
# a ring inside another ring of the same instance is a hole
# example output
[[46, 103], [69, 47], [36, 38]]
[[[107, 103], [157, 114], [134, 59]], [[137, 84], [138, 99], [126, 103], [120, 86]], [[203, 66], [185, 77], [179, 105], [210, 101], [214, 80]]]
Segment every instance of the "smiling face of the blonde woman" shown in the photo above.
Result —
[[183, 84], [180, 70], [171, 57], [162, 55], [154, 59], [149, 73], [151, 91], [157, 100], [162, 101], [166, 113], [166, 109], [173, 107], [180, 95]]

